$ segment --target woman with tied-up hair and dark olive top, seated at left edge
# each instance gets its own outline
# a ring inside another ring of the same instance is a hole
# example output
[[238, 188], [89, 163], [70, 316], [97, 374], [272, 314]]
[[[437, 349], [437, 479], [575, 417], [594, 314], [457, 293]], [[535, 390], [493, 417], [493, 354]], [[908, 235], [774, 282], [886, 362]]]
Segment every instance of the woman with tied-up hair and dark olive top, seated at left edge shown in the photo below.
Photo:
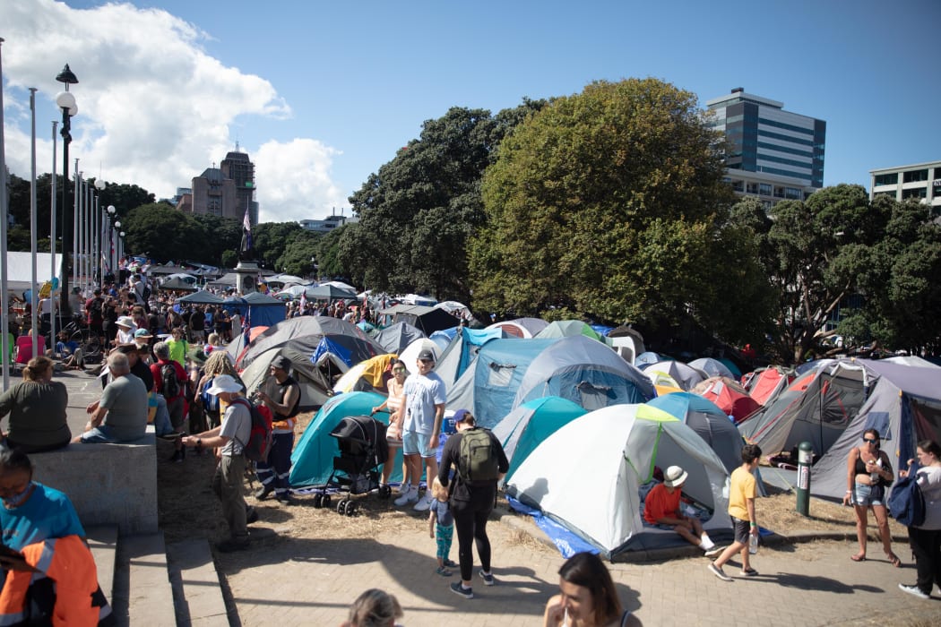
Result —
[[0, 418], [9, 414], [7, 446], [24, 453], [67, 447], [72, 431], [66, 421], [69, 392], [53, 381], [53, 362], [33, 357], [23, 368], [23, 381], [0, 396]]

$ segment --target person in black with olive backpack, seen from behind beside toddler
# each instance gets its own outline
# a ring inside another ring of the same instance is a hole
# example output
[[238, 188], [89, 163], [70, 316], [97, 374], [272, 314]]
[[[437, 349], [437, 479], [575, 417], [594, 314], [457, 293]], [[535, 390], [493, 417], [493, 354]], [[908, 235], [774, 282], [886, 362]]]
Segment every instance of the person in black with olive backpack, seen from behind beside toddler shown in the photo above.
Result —
[[[457, 532], [457, 558], [461, 581], [451, 584], [451, 591], [465, 599], [473, 599], [470, 578], [473, 572], [471, 544], [477, 544], [480, 557], [479, 572], [485, 586], [495, 580], [490, 571], [490, 539], [486, 536], [486, 520], [497, 500], [497, 481], [509, 470], [510, 462], [500, 440], [490, 431], [477, 427], [473, 415], [466, 409], [455, 412], [457, 432], [448, 438], [441, 453], [438, 480], [448, 487], [450, 483], [451, 513], [455, 517]], [[451, 478], [451, 468], [455, 476]]]

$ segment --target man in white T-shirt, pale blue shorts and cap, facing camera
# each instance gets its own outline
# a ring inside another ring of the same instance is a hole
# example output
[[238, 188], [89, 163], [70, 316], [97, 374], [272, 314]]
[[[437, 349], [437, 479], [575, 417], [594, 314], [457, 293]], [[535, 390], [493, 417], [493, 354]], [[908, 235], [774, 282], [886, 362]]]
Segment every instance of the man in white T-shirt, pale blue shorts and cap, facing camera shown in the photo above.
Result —
[[405, 420], [402, 424], [402, 453], [411, 473], [411, 484], [402, 486], [402, 495], [395, 499], [395, 505], [403, 506], [412, 501], [415, 509], [425, 511], [431, 507], [434, 496], [431, 490], [425, 491], [423, 498], [418, 497], [419, 479], [422, 478], [422, 461], [427, 469], [427, 482], [438, 475], [438, 440], [441, 432], [441, 420], [444, 417], [444, 403], [447, 393], [444, 382], [432, 372], [435, 368], [435, 353], [425, 349], [418, 353], [418, 372], [410, 375], [403, 385], [403, 407]]

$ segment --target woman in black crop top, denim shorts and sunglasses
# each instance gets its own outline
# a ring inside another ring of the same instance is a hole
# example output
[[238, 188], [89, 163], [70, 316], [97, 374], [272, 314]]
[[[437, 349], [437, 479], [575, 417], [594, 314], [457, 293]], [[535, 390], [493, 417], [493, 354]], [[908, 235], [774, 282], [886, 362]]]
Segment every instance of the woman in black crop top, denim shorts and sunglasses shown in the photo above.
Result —
[[898, 568], [901, 560], [892, 553], [892, 534], [888, 529], [888, 515], [885, 511], [885, 487], [895, 480], [892, 463], [885, 451], [879, 449], [879, 431], [867, 429], [863, 432], [863, 445], [850, 449], [846, 462], [846, 494], [843, 505], [853, 503], [856, 513], [856, 539], [859, 541], [859, 553], [851, 556], [854, 562], [866, 559], [866, 540], [869, 525], [869, 509], [879, 525], [879, 537], [888, 561]]

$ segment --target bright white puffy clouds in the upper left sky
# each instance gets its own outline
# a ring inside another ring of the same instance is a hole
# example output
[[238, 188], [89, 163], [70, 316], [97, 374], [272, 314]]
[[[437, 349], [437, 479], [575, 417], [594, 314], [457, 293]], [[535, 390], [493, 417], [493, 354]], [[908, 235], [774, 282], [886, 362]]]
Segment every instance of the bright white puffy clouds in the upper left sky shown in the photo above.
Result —
[[[129, 4], [80, 10], [53, 0], [0, 0], [0, 14], [6, 157], [18, 176], [28, 178], [30, 172], [30, 86], [40, 89], [37, 170], [51, 169], [49, 120], [61, 118], [55, 108], [61, 84], [52, 79], [63, 61], [80, 81], [72, 87], [79, 112], [72, 118], [70, 156], [81, 160], [87, 177], [101, 172], [105, 180], [136, 183], [157, 197], [188, 187], [233, 149], [235, 118], [292, 115], [270, 82], [207, 55], [201, 43], [209, 35], [164, 10]], [[58, 150], [61, 162], [61, 144]], [[264, 220], [321, 217], [346, 204], [330, 180], [336, 149], [298, 138], [248, 152]]]

